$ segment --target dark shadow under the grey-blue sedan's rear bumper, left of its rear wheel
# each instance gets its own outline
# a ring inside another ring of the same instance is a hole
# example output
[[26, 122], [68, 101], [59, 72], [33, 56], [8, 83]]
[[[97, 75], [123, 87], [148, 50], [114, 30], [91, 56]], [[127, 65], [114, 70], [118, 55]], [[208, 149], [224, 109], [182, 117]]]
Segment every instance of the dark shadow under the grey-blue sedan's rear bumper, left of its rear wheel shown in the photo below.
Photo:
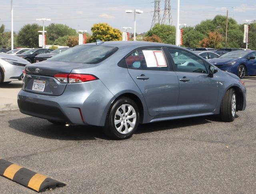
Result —
[[8, 121], [10, 128], [20, 132], [48, 139], [96, 140], [107, 139], [101, 127], [55, 125], [47, 120], [26, 117]]

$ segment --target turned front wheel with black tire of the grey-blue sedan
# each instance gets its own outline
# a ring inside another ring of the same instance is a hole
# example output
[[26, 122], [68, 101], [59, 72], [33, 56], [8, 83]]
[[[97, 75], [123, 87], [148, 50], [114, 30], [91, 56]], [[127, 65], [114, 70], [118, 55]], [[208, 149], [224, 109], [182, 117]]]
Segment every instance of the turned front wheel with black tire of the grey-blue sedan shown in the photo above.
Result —
[[224, 122], [232, 122], [236, 117], [236, 92], [230, 88], [226, 91], [220, 106], [220, 118]]

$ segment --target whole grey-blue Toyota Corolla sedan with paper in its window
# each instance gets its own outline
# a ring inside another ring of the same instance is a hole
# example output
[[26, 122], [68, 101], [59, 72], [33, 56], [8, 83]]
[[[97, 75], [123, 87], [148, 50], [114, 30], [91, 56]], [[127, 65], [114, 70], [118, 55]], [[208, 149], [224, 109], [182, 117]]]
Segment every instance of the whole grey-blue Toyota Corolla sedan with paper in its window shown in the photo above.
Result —
[[232, 122], [246, 108], [243, 80], [169, 44], [83, 44], [25, 70], [20, 112], [104, 126], [114, 139], [129, 138], [139, 123], [213, 114]]

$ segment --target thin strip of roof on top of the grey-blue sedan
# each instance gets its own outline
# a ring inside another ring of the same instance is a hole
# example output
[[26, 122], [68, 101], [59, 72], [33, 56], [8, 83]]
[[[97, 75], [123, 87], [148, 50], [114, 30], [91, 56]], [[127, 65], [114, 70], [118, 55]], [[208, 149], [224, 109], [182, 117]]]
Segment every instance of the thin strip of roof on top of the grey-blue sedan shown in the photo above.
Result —
[[[91, 44], [96, 44], [96, 43], [93, 42], [93, 43], [88, 43], [88, 44], [91, 45]], [[180, 48], [178, 46], [171, 45], [171, 44], [164, 44], [164, 43], [158, 43], [158, 42], [146, 42], [146, 41], [108, 41], [108, 42], [102, 43], [101, 45], [116, 46], [118, 48], [126, 47], [126, 46], [138, 46], [138, 47], [142, 47], [142, 46], [172, 46], [172, 47]]]

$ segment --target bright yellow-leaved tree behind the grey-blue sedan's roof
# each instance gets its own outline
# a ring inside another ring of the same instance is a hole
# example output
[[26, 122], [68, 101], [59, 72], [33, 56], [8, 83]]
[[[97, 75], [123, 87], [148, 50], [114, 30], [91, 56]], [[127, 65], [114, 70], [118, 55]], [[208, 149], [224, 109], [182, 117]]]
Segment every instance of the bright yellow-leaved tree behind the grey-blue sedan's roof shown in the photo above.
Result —
[[97, 39], [102, 41], [122, 40], [121, 31], [116, 28], [112, 28], [112, 26], [108, 25], [107, 23], [94, 24], [91, 31], [91, 42], [95, 42]]

